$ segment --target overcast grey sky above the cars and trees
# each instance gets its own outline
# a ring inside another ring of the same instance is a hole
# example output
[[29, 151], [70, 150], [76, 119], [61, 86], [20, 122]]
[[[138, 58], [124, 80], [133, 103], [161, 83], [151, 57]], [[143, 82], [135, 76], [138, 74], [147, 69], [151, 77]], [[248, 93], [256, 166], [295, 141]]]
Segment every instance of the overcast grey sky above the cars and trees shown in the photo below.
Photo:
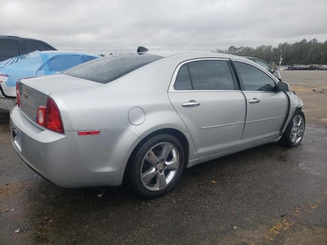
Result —
[[327, 40], [327, 0], [0, 0], [0, 35], [91, 53]]

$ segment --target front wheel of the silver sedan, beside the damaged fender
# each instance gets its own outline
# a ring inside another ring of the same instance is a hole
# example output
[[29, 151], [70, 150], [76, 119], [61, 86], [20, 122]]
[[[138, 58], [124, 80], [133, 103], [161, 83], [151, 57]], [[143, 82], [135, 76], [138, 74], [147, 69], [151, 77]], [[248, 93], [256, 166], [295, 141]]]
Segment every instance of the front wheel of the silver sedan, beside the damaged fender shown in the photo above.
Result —
[[301, 110], [297, 110], [290, 120], [279, 142], [285, 146], [293, 147], [301, 143], [305, 133], [306, 117]]

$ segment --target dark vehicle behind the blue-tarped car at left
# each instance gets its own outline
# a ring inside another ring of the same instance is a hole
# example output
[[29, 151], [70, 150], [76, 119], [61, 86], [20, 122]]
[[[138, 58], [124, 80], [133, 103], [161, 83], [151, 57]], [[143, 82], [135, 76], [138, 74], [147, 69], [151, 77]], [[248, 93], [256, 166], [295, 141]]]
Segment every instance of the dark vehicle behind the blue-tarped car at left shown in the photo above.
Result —
[[36, 50], [50, 51], [56, 50], [56, 48], [36, 39], [0, 35], [0, 62]]

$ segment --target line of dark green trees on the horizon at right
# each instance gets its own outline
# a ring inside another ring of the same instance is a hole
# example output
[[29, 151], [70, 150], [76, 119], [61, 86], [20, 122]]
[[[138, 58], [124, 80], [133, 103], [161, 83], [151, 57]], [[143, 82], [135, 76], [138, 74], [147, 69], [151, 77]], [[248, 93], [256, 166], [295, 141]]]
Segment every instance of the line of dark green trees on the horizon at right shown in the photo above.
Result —
[[316, 38], [310, 41], [302, 39], [295, 43], [279, 43], [277, 47], [272, 45], [261, 45], [255, 48], [230, 46], [228, 50], [217, 49], [214, 52], [250, 56], [276, 64], [279, 62], [279, 57], [283, 55], [282, 65], [327, 64], [327, 40], [318, 42]]

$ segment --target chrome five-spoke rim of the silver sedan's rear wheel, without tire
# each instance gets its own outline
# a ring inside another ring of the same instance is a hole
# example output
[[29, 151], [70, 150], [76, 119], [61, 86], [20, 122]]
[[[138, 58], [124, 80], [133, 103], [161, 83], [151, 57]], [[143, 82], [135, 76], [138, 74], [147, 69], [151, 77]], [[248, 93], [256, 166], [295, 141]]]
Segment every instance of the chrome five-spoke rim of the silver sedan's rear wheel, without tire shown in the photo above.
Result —
[[140, 175], [145, 188], [151, 191], [164, 189], [175, 177], [179, 167], [179, 154], [168, 142], [154, 145], [143, 158]]

